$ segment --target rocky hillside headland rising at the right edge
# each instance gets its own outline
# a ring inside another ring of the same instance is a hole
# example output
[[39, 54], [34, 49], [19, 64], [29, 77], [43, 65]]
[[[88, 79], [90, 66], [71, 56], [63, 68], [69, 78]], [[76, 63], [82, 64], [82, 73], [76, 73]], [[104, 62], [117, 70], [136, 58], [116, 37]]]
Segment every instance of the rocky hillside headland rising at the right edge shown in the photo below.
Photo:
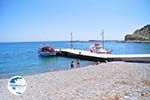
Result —
[[133, 34], [127, 34], [125, 41], [150, 41], [150, 25], [136, 30]]

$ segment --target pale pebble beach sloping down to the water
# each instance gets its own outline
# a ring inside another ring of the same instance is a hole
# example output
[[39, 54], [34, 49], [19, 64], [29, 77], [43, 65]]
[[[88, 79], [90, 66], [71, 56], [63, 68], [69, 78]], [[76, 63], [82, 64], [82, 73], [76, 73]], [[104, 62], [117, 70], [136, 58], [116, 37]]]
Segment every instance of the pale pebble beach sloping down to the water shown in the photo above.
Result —
[[21, 96], [0, 79], [2, 100], [119, 100], [150, 99], [150, 63], [108, 62], [71, 70], [23, 76], [27, 89]]

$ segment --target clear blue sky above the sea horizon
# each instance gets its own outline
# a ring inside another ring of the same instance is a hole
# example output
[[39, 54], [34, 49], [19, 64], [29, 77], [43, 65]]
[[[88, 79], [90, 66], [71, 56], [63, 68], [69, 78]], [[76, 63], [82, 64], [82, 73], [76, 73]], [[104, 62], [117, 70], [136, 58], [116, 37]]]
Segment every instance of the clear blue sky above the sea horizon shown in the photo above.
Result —
[[150, 0], [0, 0], [0, 42], [123, 40], [150, 24]]

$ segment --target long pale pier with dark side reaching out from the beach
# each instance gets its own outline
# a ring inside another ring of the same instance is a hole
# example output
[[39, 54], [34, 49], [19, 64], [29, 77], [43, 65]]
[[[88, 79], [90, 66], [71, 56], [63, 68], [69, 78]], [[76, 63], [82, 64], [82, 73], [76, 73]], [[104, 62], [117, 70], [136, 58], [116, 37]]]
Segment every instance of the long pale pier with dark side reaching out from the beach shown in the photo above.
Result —
[[73, 57], [91, 61], [150, 62], [150, 54], [97, 54], [86, 50], [56, 49], [58, 56]]

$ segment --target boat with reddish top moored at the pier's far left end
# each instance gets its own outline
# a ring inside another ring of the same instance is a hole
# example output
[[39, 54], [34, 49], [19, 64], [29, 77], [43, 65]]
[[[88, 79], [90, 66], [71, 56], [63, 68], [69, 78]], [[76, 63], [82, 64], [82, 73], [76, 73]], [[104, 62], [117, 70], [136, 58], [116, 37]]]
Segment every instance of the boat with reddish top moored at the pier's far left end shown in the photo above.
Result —
[[38, 50], [39, 56], [50, 57], [55, 56], [57, 51], [51, 46], [43, 46]]

